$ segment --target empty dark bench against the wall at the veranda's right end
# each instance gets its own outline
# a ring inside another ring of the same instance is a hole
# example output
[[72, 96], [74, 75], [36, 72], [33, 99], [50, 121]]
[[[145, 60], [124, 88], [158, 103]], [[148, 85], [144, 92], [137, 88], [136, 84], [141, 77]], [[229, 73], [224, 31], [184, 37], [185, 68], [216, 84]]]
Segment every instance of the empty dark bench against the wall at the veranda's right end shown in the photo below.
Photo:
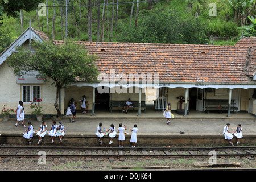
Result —
[[[219, 99], [206, 99], [205, 100], [205, 111], [209, 114], [210, 110], [219, 110], [221, 113], [224, 110], [229, 109], [229, 100], [219, 100]], [[236, 100], [232, 99], [231, 100], [231, 106], [230, 106], [230, 111], [233, 110], [233, 113], [237, 112], [238, 107], [236, 106]]]

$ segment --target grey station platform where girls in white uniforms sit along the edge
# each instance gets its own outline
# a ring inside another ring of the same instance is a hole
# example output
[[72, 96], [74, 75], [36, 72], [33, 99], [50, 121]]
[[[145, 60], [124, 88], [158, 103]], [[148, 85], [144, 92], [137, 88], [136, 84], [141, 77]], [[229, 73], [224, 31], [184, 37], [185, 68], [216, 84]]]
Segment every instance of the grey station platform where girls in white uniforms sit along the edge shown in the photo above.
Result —
[[[98, 123], [103, 123], [102, 129], [109, 129], [110, 124], [113, 123], [115, 129], [118, 130], [119, 123], [127, 126], [126, 140], [124, 146], [130, 146], [130, 128], [134, 124], [138, 126], [137, 140], [138, 146], [182, 146], [182, 145], [200, 145], [200, 144], [228, 144], [228, 140], [224, 139], [222, 131], [226, 123], [230, 123], [229, 130], [235, 131], [238, 123], [242, 126], [243, 144], [255, 144], [256, 142], [256, 119], [254, 115], [249, 113], [232, 113], [230, 117], [227, 113], [202, 113], [197, 111], [190, 111], [187, 117], [174, 113], [175, 118], [172, 118], [170, 124], [166, 124], [167, 120], [163, 116], [163, 112], [154, 111], [148, 113], [138, 113], [130, 111], [128, 114], [121, 113], [121, 111], [98, 112], [95, 116], [92, 113], [81, 114], [77, 111], [77, 117], [74, 123], [69, 122], [70, 116], [61, 117], [57, 119], [56, 123], [61, 121], [65, 125], [67, 131], [63, 137], [61, 145], [69, 146], [100, 146], [98, 138], [96, 137], [96, 128]], [[26, 119], [25, 123], [30, 121], [34, 126], [34, 130], [39, 129], [42, 122], [36, 119]], [[46, 119], [47, 130], [50, 130], [52, 119]], [[22, 132], [24, 127], [21, 123], [15, 127], [15, 118], [9, 121], [2, 121], [0, 119], [0, 144], [27, 144], [27, 139], [23, 138]], [[27, 126], [28, 127], [28, 126]], [[180, 132], [183, 132], [181, 134]], [[36, 144], [38, 137], [34, 133], [32, 139]], [[43, 138], [42, 144], [51, 144], [51, 138], [46, 135]], [[109, 146], [109, 137], [105, 135], [102, 139], [103, 146]], [[234, 137], [233, 143], [236, 143]], [[56, 138], [54, 143], [59, 145], [59, 139]], [[113, 139], [112, 146], [118, 146], [118, 134]]]

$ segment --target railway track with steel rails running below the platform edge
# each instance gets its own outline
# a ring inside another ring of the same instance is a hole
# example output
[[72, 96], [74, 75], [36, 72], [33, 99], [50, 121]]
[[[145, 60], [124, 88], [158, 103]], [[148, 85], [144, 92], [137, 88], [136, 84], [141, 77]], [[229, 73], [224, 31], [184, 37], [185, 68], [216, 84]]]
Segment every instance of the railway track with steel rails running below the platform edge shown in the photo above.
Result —
[[256, 146], [248, 147], [55, 147], [55, 146], [0, 146], [0, 158], [38, 158], [42, 152], [47, 159], [51, 158], [108, 158], [114, 160], [119, 158], [169, 158], [176, 160], [177, 158], [203, 158], [211, 156], [213, 153], [219, 158], [229, 157], [245, 157], [251, 160], [255, 159]]

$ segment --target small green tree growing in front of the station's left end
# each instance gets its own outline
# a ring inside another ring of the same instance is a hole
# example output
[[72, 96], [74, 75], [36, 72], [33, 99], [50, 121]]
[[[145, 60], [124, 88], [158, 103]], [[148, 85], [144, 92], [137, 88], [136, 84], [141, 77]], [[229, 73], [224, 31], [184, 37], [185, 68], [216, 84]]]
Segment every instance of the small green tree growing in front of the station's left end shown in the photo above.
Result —
[[22, 76], [27, 71], [38, 71], [46, 81], [51, 78], [56, 86], [55, 109], [57, 117], [61, 115], [59, 109], [59, 91], [63, 86], [72, 82], [97, 81], [98, 71], [94, 65], [97, 56], [90, 55], [84, 47], [69, 40], [60, 46], [55, 46], [51, 41], [34, 42], [36, 52], [27, 51], [23, 46], [17, 48], [7, 59], [7, 63], [16, 76]]

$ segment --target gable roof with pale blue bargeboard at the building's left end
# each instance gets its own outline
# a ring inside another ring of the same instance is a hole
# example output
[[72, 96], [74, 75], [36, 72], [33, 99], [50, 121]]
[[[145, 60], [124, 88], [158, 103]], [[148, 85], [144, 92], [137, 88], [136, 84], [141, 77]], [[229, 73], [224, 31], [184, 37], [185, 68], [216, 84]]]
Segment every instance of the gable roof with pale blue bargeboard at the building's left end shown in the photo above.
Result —
[[40, 30], [36, 30], [35, 28], [32, 28], [32, 27], [30, 29], [30, 27], [28, 27], [16, 40], [14, 40], [13, 43], [10, 44], [9, 47], [5, 49], [5, 51], [1, 53], [0, 65], [3, 63], [3, 61], [7, 59], [8, 56], [11, 55], [11, 53], [16, 51], [16, 47], [21, 46], [24, 42], [26, 42], [26, 40], [30, 38], [33, 40], [40, 40], [40, 41], [50, 40], [44, 32]]

